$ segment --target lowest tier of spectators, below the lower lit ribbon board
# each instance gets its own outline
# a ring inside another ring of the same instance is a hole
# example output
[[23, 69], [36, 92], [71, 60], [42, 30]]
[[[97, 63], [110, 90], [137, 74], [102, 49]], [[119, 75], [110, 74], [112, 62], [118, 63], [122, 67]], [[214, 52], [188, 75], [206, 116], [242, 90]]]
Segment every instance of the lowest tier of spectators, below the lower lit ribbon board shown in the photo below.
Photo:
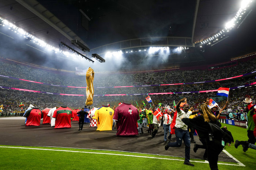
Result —
[[[245, 111], [245, 103], [243, 102], [245, 95], [251, 95], [252, 100], [255, 100], [256, 86], [232, 90], [229, 95], [229, 104], [226, 110], [224, 110], [224, 114], [227, 113], [228, 109], [231, 109], [234, 113], [241, 113]], [[169, 105], [170, 107], [173, 107], [174, 100], [177, 103], [181, 98], [186, 97], [188, 104], [196, 108], [198, 104], [205, 102], [206, 98], [211, 98], [212, 96], [216, 96], [215, 92], [184, 95], [152, 95], [151, 99], [156, 106], [158, 103], [162, 103], [162, 106]], [[95, 96], [91, 107], [100, 107], [101, 105], [106, 104], [110, 104], [110, 107], [114, 107], [118, 106], [118, 103], [120, 102], [129, 102], [136, 107], [144, 108], [144, 101], [146, 103], [146, 107], [149, 108], [150, 104], [146, 102], [145, 97], [146, 95]], [[29, 104], [33, 104], [33, 106], [38, 107], [40, 110], [43, 110], [46, 107], [49, 108], [61, 105], [66, 105], [72, 109], [82, 108], [85, 105], [85, 101], [85, 96], [61, 96], [26, 91], [0, 90], [0, 104], [3, 104], [3, 112], [22, 112], [21, 107], [19, 107], [21, 102], [25, 104], [25, 106], [23, 106], [24, 111], [24, 109], [26, 110], [26, 108], [29, 107]], [[225, 105], [225, 102], [226, 100], [222, 100], [218, 102], [218, 104], [222, 108]]]

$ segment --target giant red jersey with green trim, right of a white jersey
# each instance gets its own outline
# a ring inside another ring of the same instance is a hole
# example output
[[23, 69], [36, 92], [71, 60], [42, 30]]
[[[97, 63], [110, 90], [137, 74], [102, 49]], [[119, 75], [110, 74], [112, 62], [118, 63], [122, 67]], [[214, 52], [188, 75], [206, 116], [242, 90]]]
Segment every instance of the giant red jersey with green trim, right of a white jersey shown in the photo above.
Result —
[[69, 107], [59, 107], [53, 113], [53, 118], [55, 118], [55, 127], [57, 128], [71, 128], [71, 118], [74, 118], [72, 115], [72, 110]]

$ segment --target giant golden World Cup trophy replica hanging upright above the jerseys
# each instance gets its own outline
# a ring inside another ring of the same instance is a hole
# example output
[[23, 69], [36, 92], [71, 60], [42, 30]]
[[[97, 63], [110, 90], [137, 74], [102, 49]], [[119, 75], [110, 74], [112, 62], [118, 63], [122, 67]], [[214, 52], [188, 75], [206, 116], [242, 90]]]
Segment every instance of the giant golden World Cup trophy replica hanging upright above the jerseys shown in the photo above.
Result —
[[85, 104], [87, 106], [91, 106], [93, 104], [93, 94], [94, 94], [93, 79], [94, 79], [94, 71], [91, 67], [89, 67], [86, 72], [87, 87], [86, 87], [86, 102], [85, 102]]

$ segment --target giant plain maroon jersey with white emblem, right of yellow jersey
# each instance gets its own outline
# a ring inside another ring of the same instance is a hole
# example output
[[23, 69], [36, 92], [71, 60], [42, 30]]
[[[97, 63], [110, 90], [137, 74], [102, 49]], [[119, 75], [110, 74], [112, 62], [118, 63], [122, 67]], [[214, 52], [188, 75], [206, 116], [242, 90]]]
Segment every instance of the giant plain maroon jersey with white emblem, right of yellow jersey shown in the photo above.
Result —
[[113, 119], [116, 120], [117, 134], [138, 135], [137, 120], [140, 119], [138, 109], [132, 104], [123, 103], [114, 111]]

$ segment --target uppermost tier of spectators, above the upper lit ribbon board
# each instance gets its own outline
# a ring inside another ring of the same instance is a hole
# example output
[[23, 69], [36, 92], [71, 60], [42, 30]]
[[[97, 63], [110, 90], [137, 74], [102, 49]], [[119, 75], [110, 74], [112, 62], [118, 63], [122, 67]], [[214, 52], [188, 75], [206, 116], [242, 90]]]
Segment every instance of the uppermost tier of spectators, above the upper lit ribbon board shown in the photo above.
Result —
[[[236, 66], [215, 70], [170, 70], [166, 72], [143, 73], [95, 73], [95, 87], [133, 86], [165, 83], [190, 83], [223, 79], [255, 71], [256, 59], [238, 63]], [[87, 68], [84, 68], [87, 69]], [[36, 82], [63, 86], [86, 87], [85, 76], [74, 73], [46, 70], [37, 67], [17, 64], [1, 59], [0, 74]]]

